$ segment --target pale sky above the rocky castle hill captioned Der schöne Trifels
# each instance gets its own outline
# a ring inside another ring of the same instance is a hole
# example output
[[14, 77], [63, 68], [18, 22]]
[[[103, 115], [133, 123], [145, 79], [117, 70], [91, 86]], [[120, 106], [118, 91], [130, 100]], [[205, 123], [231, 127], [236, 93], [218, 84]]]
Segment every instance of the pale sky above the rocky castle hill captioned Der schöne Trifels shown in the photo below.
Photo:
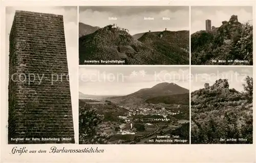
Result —
[[218, 79], [228, 79], [229, 88], [242, 91], [247, 76], [252, 77], [252, 67], [191, 67], [191, 91], [212, 85]]

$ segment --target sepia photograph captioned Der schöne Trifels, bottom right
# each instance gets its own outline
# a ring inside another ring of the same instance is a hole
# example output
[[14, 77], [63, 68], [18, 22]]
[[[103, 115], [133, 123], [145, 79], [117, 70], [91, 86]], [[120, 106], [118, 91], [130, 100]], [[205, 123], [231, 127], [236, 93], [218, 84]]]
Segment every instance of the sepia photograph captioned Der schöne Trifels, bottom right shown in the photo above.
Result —
[[191, 144], [252, 144], [252, 67], [191, 67]]

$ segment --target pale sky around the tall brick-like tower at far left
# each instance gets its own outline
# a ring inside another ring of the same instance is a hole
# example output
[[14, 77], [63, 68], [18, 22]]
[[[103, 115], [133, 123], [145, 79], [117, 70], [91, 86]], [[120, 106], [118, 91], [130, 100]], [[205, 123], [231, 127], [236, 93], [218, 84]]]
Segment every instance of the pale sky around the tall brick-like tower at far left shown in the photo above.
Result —
[[[77, 75], [78, 75], [77, 74], [77, 71], [78, 71], [77, 7], [6, 7], [6, 56], [7, 56], [6, 63], [9, 62], [9, 34], [12, 27], [12, 21], [14, 18], [15, 10], [63, 15], [68, 67], [69, 67], [69, 73], [71, 75], [70, 89], [71, 89], [72, 108], [73, 108], [73, 115], [74, 117], [76, 117], [76, 115], [78, 115], [78, 112], [76, 112], [77, 110], [75, 109], [75, 108], [78, 108], [77, 106], [78, 86], [77, 86], [77, 80], [73, 80], [73, 78], [77, 79]], [[8, 74], [6, 79], [8, 80]], [[77, 123], [78, 123], [77, 120], [74, 118], [74, 124], [77, 124]], [[75, 133], [78, 133], [76, 127], [74, 129], [75, 129]], [[76, 141], [77, 141], [77, 138], [76, 138]]]

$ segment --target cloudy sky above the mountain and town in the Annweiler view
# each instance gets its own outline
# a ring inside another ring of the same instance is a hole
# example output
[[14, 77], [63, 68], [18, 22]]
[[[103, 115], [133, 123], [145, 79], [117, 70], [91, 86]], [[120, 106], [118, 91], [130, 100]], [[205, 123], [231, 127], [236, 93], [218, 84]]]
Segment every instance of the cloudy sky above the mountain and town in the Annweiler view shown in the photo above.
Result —
[[79, 67], [79, 91], [87, 95], [128, 95], [162, 82], [189, 89], [188, 67]]

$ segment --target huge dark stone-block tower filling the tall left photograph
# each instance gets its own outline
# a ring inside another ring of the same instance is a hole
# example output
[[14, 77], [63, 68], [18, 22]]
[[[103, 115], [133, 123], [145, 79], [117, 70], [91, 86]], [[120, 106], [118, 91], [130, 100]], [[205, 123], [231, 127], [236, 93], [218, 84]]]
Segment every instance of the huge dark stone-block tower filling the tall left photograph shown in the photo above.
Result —
[[75, 143], [62, 15], [16, 11], [9, 39], [8, 143]]

